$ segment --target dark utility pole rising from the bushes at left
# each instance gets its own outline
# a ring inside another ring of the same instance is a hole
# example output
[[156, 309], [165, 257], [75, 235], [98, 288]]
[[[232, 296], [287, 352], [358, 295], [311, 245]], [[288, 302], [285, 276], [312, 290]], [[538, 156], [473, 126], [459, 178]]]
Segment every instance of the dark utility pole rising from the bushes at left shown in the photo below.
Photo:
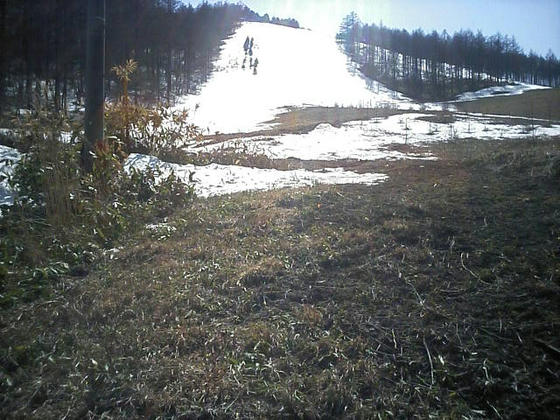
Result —
[[82, 166], [93, 169], [93, 146], [103, 140], [103, 76], [105, 71], [105, 0], [88, 0], [86, 53], [86, 139]]

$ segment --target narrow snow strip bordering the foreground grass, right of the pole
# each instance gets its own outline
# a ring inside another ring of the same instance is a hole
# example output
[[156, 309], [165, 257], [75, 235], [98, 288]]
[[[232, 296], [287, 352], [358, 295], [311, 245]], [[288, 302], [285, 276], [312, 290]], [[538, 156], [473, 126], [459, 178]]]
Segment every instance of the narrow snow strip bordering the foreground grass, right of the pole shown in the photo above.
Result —
[[[262, 191], [286, 187], [303, 187], [316, 184], [367, 184], [376, 185], [387, 176], [377, 173], [358, 174], [342, 168], [307, 171], [279, 171], [235, 165], [211, 164], [206, 166], [178, 165], [159, 160], [154, 156], [131, 154], [125, 162], [125, 170], [158, 168], [160, 176], [171, 171], [185, 183], [195, 181], [194, 189], [201, 197], [233, 194], [242, 191]], [[193, 175], [194, 173], [194, 175]]]

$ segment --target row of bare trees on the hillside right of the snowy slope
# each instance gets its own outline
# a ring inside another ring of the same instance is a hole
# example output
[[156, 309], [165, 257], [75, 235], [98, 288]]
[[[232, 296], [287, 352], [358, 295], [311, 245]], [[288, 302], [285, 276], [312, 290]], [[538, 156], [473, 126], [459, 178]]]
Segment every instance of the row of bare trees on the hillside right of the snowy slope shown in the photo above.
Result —
[[448, 100], [466, 90], [505, 82], [560, 86], [560, 61], [525, 54], [515, 37], [461, 30], [424, 33], [364, 24], [346, 16], [338, 42], [367, 76], [421, 100]]

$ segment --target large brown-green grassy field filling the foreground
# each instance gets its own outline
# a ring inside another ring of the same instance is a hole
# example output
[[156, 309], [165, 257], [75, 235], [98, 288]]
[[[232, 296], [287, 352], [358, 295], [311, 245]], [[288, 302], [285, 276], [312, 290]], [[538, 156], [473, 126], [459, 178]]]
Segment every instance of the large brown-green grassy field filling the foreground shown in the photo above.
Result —
[[560, 139], [197, 200], [0, 312], [0, 417], [555, 418]]

